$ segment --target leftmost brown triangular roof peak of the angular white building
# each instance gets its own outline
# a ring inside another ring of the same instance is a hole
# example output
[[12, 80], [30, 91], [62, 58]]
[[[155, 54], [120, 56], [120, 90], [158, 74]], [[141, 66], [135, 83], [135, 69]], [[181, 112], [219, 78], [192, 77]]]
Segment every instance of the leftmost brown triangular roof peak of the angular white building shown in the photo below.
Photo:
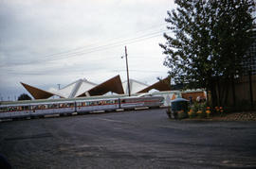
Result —
[[28, 93], [30, 93], [35, 99], [46, 99], [54, 95], [54, 93], [48, 93], [44, 90], [32, 87], [23, 82], [21, 84], [27, 89]]

